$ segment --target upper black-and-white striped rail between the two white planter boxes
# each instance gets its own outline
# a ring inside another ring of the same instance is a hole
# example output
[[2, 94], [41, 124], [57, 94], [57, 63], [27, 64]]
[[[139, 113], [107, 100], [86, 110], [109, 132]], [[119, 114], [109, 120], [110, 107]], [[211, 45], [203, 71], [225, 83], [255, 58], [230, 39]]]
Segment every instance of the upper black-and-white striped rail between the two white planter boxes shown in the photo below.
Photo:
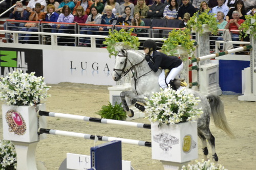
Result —
[[122, 121], [122, 120], [87, 117], [87, 116], [79, 116], [79, 115], [73, 115], [73, 114], [47, 112], [47, 111], [41, 111], [41, 110], [38, 110], [37, 114], [39, 114], [40, 116], [83, 120], [85, 122], [95, 122], [95, 123], [101, 123], [101, 124], [113, 124], [113, 125], [132, 126], [132, 127], [137, 127], [137, 128], [151, 129], [150, 124], [141, 124], [141, 123], [135, 123], [135, 122]]

